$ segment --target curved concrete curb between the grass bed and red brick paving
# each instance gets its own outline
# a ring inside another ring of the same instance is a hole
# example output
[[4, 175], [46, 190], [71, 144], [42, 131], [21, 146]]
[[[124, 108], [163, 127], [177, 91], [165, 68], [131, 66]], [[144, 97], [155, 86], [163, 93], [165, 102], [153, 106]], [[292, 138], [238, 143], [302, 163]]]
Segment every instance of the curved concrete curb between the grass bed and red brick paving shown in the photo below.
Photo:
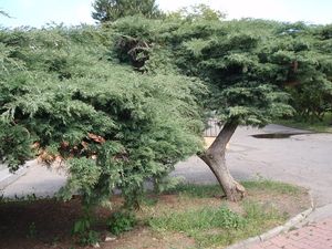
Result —
[[294, 216], [293, 218], [289, 219], [282, 226], [274, 227], [271, 230], [269, 230], [262, 235], [255, 236], [249, 239], [237, 242], [235, 245], [231, 245], [231, 246], [227, 247], [226, 249], [248, 249], [259, 242], [271, 239], [282, 232], [288, 232], [291, 228], [295, 227], [297, 225], [301, 224], [304, 219], [307, 219], [308, 216], [315, 209], [311, 194], [309, 194], [309, 196], [310, 196], [311, 207], [308, 208], [307, 210], [304, 210], [304, 211], [300, 212], [299, 215]]

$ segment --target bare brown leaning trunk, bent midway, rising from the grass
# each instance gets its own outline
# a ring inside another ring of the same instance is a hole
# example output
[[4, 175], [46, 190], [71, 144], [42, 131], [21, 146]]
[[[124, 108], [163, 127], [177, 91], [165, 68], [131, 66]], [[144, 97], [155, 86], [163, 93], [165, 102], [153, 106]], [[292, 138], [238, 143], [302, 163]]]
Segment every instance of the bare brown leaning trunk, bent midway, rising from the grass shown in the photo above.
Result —
[[200, 158], [210, 167], [217, 177], [227, 199], [231, 201], [241, 199], [246, 194], [245, 187], [230, 175], [225, 158], [226, 146], [237, 127], [238, 122], [227, 122], [211, 146], [200, 155]]

